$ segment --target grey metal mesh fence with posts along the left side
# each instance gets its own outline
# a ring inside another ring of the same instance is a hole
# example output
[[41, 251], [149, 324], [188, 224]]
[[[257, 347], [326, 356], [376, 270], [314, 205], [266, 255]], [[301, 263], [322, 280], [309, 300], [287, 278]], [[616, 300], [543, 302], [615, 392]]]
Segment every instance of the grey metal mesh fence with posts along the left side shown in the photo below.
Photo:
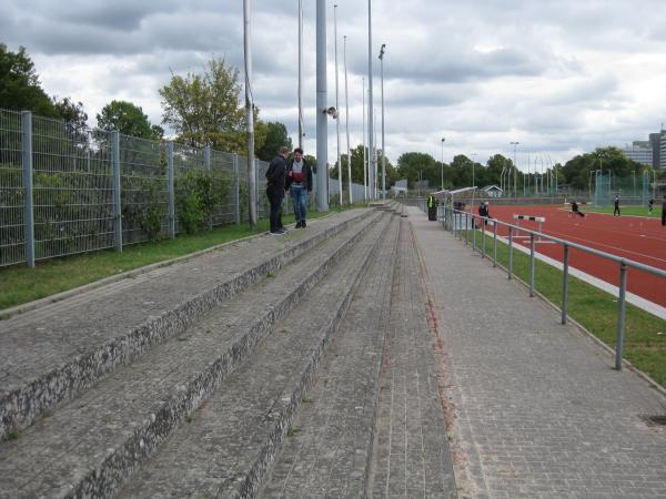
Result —
[[[0, 267], [249, 220], [246, 157], [0, 110]], [[255, 162], [256, 213], [269, 164]], [[330, 180], [335, 190], [337, 182]], [[353, 184], [354, 201], [364, 198]], [[192, 210], [193, 191], [206, 220]], [[335, 191], [337, 192], [337, 191]], [[203, 197], [203, 198], [201, 198]], [[334, 198], [334, 192], [331, 192]], [[314, 210], [314, 196], [309, 196]], [[293, 212], [289, 196], [284, 213]]]

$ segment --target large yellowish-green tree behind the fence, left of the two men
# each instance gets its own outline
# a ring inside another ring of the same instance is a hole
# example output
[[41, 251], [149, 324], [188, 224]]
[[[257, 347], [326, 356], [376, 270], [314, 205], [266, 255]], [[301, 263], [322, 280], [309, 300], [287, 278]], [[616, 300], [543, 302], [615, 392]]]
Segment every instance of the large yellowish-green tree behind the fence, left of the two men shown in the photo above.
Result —
[[[173, 126], [179, 139], [193, 147], [211, 145], [243, 153], [246, 147], [245, 110], [240, 101], [239, 70], [223, 59], [211, 59], [203, 74], [172, 75], [162, 95], [162, 123]], [[262, 147], [266, 128], [254, 109], [254, 150]]]

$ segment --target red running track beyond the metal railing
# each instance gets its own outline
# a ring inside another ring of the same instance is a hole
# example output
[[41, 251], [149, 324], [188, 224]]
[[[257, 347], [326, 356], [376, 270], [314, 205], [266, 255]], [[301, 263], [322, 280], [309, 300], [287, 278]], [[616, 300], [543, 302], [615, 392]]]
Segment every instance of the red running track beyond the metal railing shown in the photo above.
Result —
[[[585, 212], [585, 207], [581, 210]], [[477, 214], [478, 206], [473, 206], [472, 211]], [[519, 222], [521, 227], [528, 230], [537, 230], [538, 224], [531, 221], [515, 221], [513, 215], [543, 216], [546, 218], [542, 224], [544, 234], [666, 271], [666, 227], [662, 226], [662, 221], [658, 218], [613, 216], [601, 213], [585, 213], [585, 217], [571, 216], [569, 210], [562, 205], [491, 205], [490, 213], [492, 217], [513, 225]], [[501, 225], [497, 233], [503, 236], [508, 234]], [[528, 238], [517, 238], [515, 242], [529, 246]], [[537, 243], [535, 247], [538, 253], [563, 261], [564, 251], [559, 244]], [[571, 248], [569, 265], [619, 286], [619, 264], [615, 262]], [[627, 289], [666, 306], [666, 278], [629, 268]]]

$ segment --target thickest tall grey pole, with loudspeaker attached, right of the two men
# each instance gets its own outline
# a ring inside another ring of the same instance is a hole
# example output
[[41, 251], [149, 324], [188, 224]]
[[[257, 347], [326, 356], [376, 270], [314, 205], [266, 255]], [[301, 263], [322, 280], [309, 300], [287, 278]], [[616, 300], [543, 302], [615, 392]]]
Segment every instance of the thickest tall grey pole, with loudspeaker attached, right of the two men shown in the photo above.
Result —
[[326, 0], [316, 0], [316, 207], [320, 212], [329, 211], [326, 100]]

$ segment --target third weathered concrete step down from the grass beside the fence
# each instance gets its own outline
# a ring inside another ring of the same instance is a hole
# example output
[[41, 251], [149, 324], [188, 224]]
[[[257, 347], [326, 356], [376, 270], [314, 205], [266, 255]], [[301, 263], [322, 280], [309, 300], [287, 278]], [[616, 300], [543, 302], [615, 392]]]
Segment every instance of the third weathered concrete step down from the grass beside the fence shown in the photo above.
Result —
[[385, 244], [384, 216], [130, 479], [120, 497], [252, 497], [315, 376], [364, 268]]

